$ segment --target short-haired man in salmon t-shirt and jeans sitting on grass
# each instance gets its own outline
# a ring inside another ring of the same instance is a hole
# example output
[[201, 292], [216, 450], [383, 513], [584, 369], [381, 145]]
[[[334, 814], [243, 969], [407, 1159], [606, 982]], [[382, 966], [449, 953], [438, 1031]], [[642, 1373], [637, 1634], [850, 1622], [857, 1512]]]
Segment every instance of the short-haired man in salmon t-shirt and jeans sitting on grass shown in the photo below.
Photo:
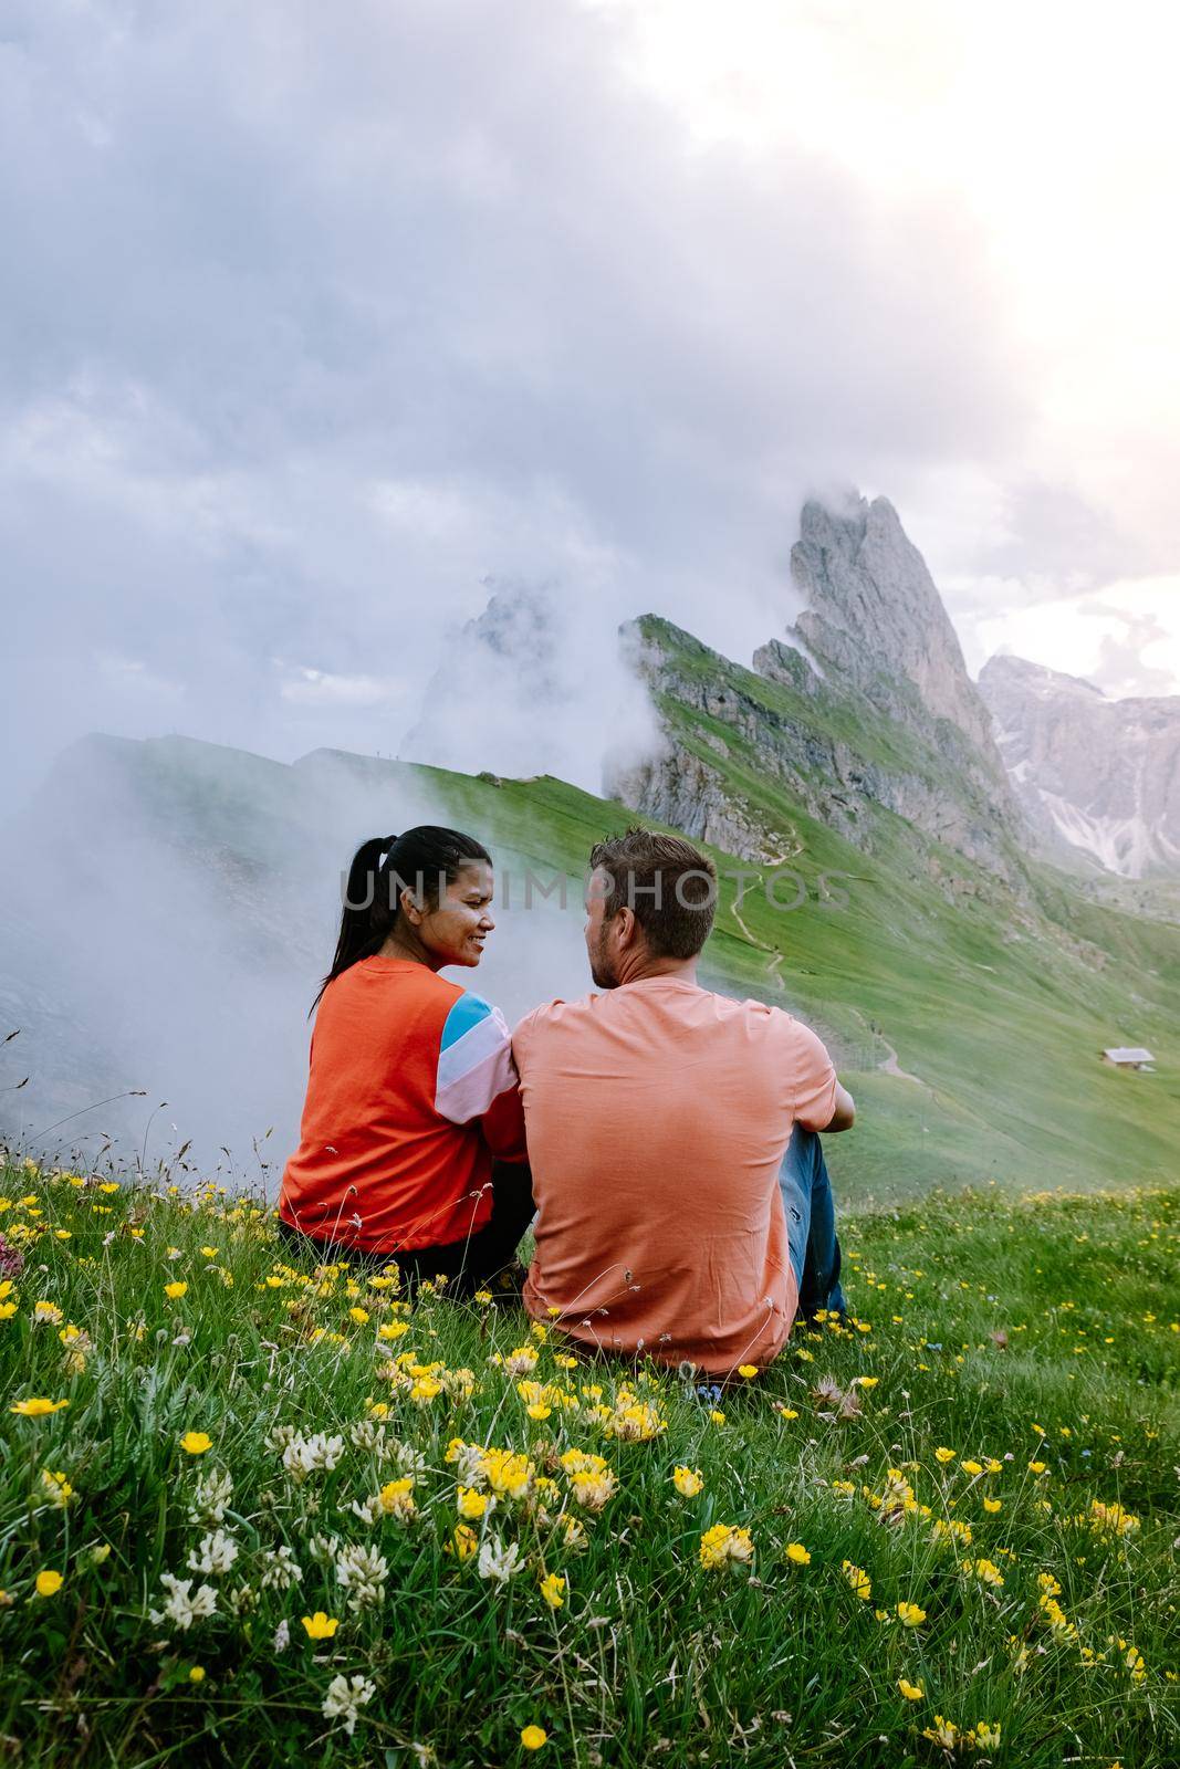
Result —
[[513, 1033], [536, 1256], [525, 1307], [573, 1339], [713, 1376], [766, 1366], [801, 1309], [844, 1311], [817, 1130], [853, 1099], [814, 1031], [697, 982], [713, 862], [628, 830], [591, 854], [603, 994]]

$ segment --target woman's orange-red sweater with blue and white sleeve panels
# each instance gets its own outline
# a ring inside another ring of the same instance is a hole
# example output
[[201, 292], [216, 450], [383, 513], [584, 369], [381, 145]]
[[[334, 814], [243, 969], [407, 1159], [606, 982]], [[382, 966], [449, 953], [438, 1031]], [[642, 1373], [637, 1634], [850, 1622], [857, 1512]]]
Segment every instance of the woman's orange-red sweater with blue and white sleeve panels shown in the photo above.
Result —
[[361, 959], [317, 1008], [280, 1217], [366, 1252], [464, 1240], [492, 1215], [492, 1159], [525, 1159], [499, 1008], [409, 959]]

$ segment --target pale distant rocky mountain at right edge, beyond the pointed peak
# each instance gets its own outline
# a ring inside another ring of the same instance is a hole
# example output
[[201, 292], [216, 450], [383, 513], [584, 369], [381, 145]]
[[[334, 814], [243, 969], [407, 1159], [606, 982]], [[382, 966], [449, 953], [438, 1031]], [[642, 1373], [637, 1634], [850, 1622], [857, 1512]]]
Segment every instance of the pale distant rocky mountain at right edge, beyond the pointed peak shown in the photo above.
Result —
[[1180, 874], [1180, 695], [1107, 701], [1093, 683], [994, 656], [980, 692], [1042, 844], [1123, 877]]

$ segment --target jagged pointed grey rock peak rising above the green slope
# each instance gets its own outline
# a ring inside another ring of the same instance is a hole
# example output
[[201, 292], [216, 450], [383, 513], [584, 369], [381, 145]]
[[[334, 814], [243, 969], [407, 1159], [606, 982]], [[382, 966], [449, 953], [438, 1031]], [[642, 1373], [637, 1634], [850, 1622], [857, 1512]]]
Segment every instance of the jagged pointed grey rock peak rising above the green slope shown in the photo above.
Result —
[[991, 716], [893, 506], [805, 504], [791, 575], [803, 612], [785, 639], [759, 647], [752, 670], [653, 616], [624, 630], [665, 747], [616, 770], [607, 789], [690, 835], [764, 858], [780, 835], [734, 800], [720, 766], [739, 748], [867, 851], [881, 835], [874, 814], [886, 812], [1021, 893], [1028, 831]]

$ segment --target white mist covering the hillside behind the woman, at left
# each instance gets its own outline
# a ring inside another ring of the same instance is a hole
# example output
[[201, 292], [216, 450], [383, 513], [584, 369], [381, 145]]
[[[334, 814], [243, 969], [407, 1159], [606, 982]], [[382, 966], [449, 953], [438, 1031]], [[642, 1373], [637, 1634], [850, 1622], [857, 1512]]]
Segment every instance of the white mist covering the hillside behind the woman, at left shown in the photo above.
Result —
[[[88, 1166], [154, 1168], [191, 1143], [202, 1173], [272, 1191], [341, 870], [366, 837], [455, 821], [409, 770], [372, 759], [74, 745], [5, 831], [18, 863], [0, 874], [0, 1037], [19, 1037], [2, 1053], [0, 1132]], [[513, 863], [495, 828], [471, 833]], [[556, 895], [529, 909], [520, 895], [494, 906], [479, 968], [446, 973], [510, 1022], [589, 989], [580, 881], [564, 913]]]

